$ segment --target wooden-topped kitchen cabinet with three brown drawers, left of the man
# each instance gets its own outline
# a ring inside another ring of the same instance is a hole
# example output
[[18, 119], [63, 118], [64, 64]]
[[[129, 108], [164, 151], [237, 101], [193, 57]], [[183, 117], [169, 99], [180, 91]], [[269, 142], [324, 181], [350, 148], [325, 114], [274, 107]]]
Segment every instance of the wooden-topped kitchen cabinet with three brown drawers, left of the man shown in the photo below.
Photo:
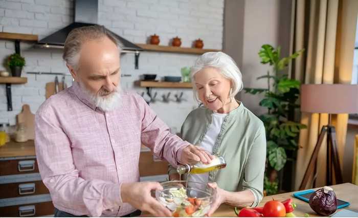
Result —
[[34, 141], [0, 147], [0, 216], [52, 215], [49, 190], [42, 183]]

